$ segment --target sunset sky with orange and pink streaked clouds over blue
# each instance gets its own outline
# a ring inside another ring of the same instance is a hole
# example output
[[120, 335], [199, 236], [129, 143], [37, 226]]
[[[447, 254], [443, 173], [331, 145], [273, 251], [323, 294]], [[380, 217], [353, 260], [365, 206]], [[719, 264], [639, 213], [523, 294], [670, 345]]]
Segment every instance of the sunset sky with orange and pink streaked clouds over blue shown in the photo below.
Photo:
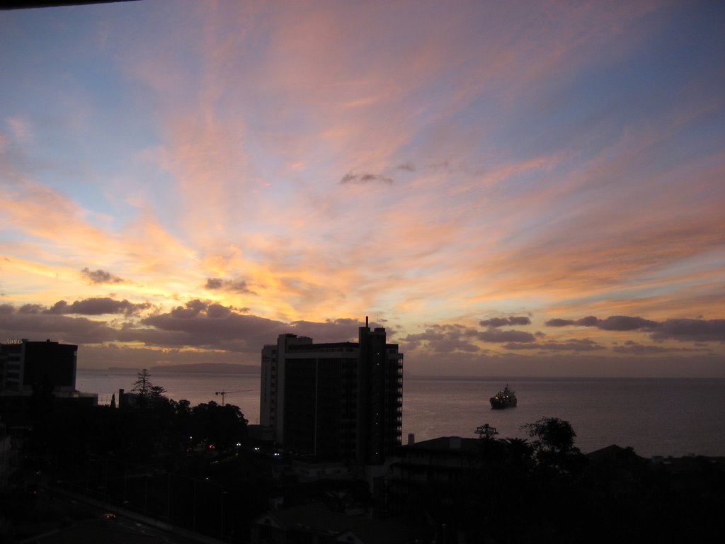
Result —
[[0, 341], [725, 377], [725, 3], [0, 12]]

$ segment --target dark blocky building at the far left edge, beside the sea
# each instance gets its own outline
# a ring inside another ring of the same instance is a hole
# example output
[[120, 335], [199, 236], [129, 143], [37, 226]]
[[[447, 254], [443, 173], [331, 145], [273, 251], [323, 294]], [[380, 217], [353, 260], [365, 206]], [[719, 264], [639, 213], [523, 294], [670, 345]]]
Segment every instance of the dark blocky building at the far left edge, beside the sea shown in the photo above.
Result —
[[30, 394], [36, 384], [73, 392], [77, 360], [76, 345], [27, 339], [0, 344], [0, 392]]

